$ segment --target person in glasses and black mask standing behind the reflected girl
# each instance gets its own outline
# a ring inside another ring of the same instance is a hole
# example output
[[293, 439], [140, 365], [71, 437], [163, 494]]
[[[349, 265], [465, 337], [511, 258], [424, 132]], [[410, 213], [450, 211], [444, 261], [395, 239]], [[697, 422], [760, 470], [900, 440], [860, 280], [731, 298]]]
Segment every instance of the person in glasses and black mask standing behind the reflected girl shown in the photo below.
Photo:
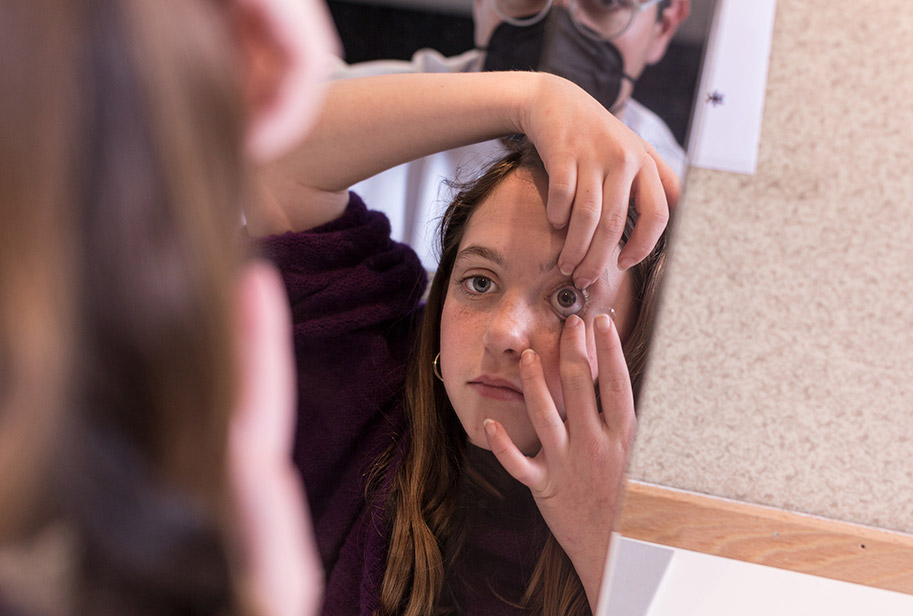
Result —
[[[333, 77], [483, 70], [555, 73], [612, 111], [681, 179], [684, 150], [659, 116], [631, 94], [643, 70], [663, 58], [690, 12], [691, 0], [474, 0], [475, 49], [453, 57], [421, 49], [411, 61], [340, 61]], [[449, 150], [390, 169], [353, 189], [387, 215], [394, 239], [409, 243], [433, 270], [435, 223], [450, 196], [445, 181], [471, 175], [502, 153], [497, 141]]]

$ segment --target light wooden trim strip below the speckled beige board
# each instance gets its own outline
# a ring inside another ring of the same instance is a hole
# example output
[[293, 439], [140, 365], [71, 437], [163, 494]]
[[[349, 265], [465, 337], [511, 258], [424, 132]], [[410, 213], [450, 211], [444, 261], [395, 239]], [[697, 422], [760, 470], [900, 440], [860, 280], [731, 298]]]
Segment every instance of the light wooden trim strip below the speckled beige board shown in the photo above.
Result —
[[913, 595], [913, 536], [629, 480], [619, 532]]

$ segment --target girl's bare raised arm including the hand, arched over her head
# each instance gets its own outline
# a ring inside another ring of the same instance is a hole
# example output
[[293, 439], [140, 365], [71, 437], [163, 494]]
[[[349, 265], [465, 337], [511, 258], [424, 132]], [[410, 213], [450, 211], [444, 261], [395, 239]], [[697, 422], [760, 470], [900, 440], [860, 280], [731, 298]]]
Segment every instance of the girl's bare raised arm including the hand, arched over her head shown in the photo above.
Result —
[[578, 86], [532, 72], [334, 82], [309, 138], [262, 170], [263, 198], [246, 211], [249, 230], [262, 236], [312, 228], [338, 217], [346, 189], [362, 179], [434, 152], [514, 133], [527, 134], [545, 162], [549, 220], [570, 225], [563, 270], [577, 268], [575, 280], [588, 284], [604, 269], [631, 194], [641, 222], [619, 263], [631, 265], [652, 249], [665, 227], [667, 204], [678, 196], [675, 174]]

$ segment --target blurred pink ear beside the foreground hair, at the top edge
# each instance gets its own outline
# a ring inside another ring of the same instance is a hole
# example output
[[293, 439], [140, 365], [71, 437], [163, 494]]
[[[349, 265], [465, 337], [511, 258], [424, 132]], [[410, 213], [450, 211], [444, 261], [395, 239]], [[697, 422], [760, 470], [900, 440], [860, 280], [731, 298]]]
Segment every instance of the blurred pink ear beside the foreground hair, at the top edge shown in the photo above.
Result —
[[233, 6], [245, 62], [247, 150], [264, 162], [307, 134], [338, 39], [318, 0], [234, 0]]

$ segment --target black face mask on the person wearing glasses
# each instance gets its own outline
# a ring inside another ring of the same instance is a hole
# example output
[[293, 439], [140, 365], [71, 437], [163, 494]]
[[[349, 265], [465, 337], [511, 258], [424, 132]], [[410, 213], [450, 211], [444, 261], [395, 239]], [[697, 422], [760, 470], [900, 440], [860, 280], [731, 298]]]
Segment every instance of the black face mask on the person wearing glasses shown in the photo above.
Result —
[[549, 11], [531, 26], [501, 22], [485, 55], [486, 71], [544, 71], [559, 75], [589, 92], [611, 109], [621, 92], [621, 82], [634, 79], [624, 73], [621, 52], [610, 41], [583, 35], [563, 7]]

